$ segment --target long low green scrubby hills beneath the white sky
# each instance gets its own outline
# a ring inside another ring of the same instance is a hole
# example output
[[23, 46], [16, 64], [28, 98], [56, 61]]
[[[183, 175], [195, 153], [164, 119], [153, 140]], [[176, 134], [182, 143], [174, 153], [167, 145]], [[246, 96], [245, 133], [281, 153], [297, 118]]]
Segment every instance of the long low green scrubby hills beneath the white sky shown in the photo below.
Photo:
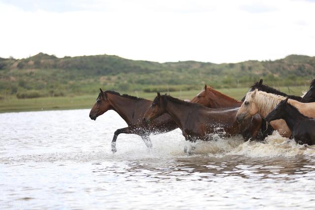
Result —
[[239, 63], [179, 61], [158, 63], [98, 55], [57, 58], [39, 53], [27, 59], [0, 58], [0, 94], [18, 97], [119, 91], [165, 91], [248, 87], [259, 78], [269, 85], [305, 85], [315, 78], [315, 57]]

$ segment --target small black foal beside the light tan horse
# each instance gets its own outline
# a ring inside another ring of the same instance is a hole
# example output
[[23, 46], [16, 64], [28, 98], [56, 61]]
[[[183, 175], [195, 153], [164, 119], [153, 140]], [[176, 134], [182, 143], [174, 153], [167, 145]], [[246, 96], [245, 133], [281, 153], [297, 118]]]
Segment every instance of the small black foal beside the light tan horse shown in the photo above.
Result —
[[287, 103], [287, 99], [281, 101], [272, 112], [270, 112], [266, 120], [285, 120], [287, 126], [292, 132], [294, 140], [298, 144], [315, 144], [315, 119], [302, 115], [294, 106]]

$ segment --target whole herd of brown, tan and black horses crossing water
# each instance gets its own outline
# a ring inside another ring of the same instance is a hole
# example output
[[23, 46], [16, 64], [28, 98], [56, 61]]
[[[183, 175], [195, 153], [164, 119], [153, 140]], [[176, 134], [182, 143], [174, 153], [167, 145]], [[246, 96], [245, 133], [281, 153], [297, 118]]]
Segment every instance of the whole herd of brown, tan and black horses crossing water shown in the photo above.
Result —
[[298, 144], [315, 144], [315, 80], [300, 97], [264, 85], [260, 79], [241, 101], [207, 85], [190, 101], [159, 92], [151, 101], [100, 89], [90, 118], [96, 120], [108, 110], [117, 112], [128, 125], [114, 132], [113, 152], [117, 151], [116, 140], [121, 133], [139, 135], [151, 148], [150, 134], [176, 128], [191, 142], [212, 140], [212, 134], [221, 137], [241, 134], [245, 141], [262, 141], [277, 130]]

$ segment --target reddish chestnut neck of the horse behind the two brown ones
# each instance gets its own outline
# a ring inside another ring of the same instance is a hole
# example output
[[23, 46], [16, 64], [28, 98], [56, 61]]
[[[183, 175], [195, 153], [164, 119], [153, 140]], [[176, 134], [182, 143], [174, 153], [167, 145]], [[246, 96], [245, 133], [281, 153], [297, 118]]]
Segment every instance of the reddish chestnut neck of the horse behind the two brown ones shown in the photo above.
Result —
[[212, 101], [214, 103], [214, 107], [211, 107], [213, 109], [218, 108], [229, 108], [229, 107], [240, 107], [243, 102], [237, 101], [234, 98], [231, 98], [219, 91], [216, 90], [210, 90], [216, 98], [212, 98]]

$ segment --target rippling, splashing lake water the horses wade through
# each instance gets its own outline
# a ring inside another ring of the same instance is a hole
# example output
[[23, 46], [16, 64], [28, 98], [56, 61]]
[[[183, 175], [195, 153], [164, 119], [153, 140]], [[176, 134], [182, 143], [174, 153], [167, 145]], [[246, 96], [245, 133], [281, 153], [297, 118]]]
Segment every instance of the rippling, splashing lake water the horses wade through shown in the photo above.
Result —
[[0, 114], [0, 209], [314, 209], [315, 147], [269, 136], [197, 142], [152, 135], [148, 150], [113, 111]]

